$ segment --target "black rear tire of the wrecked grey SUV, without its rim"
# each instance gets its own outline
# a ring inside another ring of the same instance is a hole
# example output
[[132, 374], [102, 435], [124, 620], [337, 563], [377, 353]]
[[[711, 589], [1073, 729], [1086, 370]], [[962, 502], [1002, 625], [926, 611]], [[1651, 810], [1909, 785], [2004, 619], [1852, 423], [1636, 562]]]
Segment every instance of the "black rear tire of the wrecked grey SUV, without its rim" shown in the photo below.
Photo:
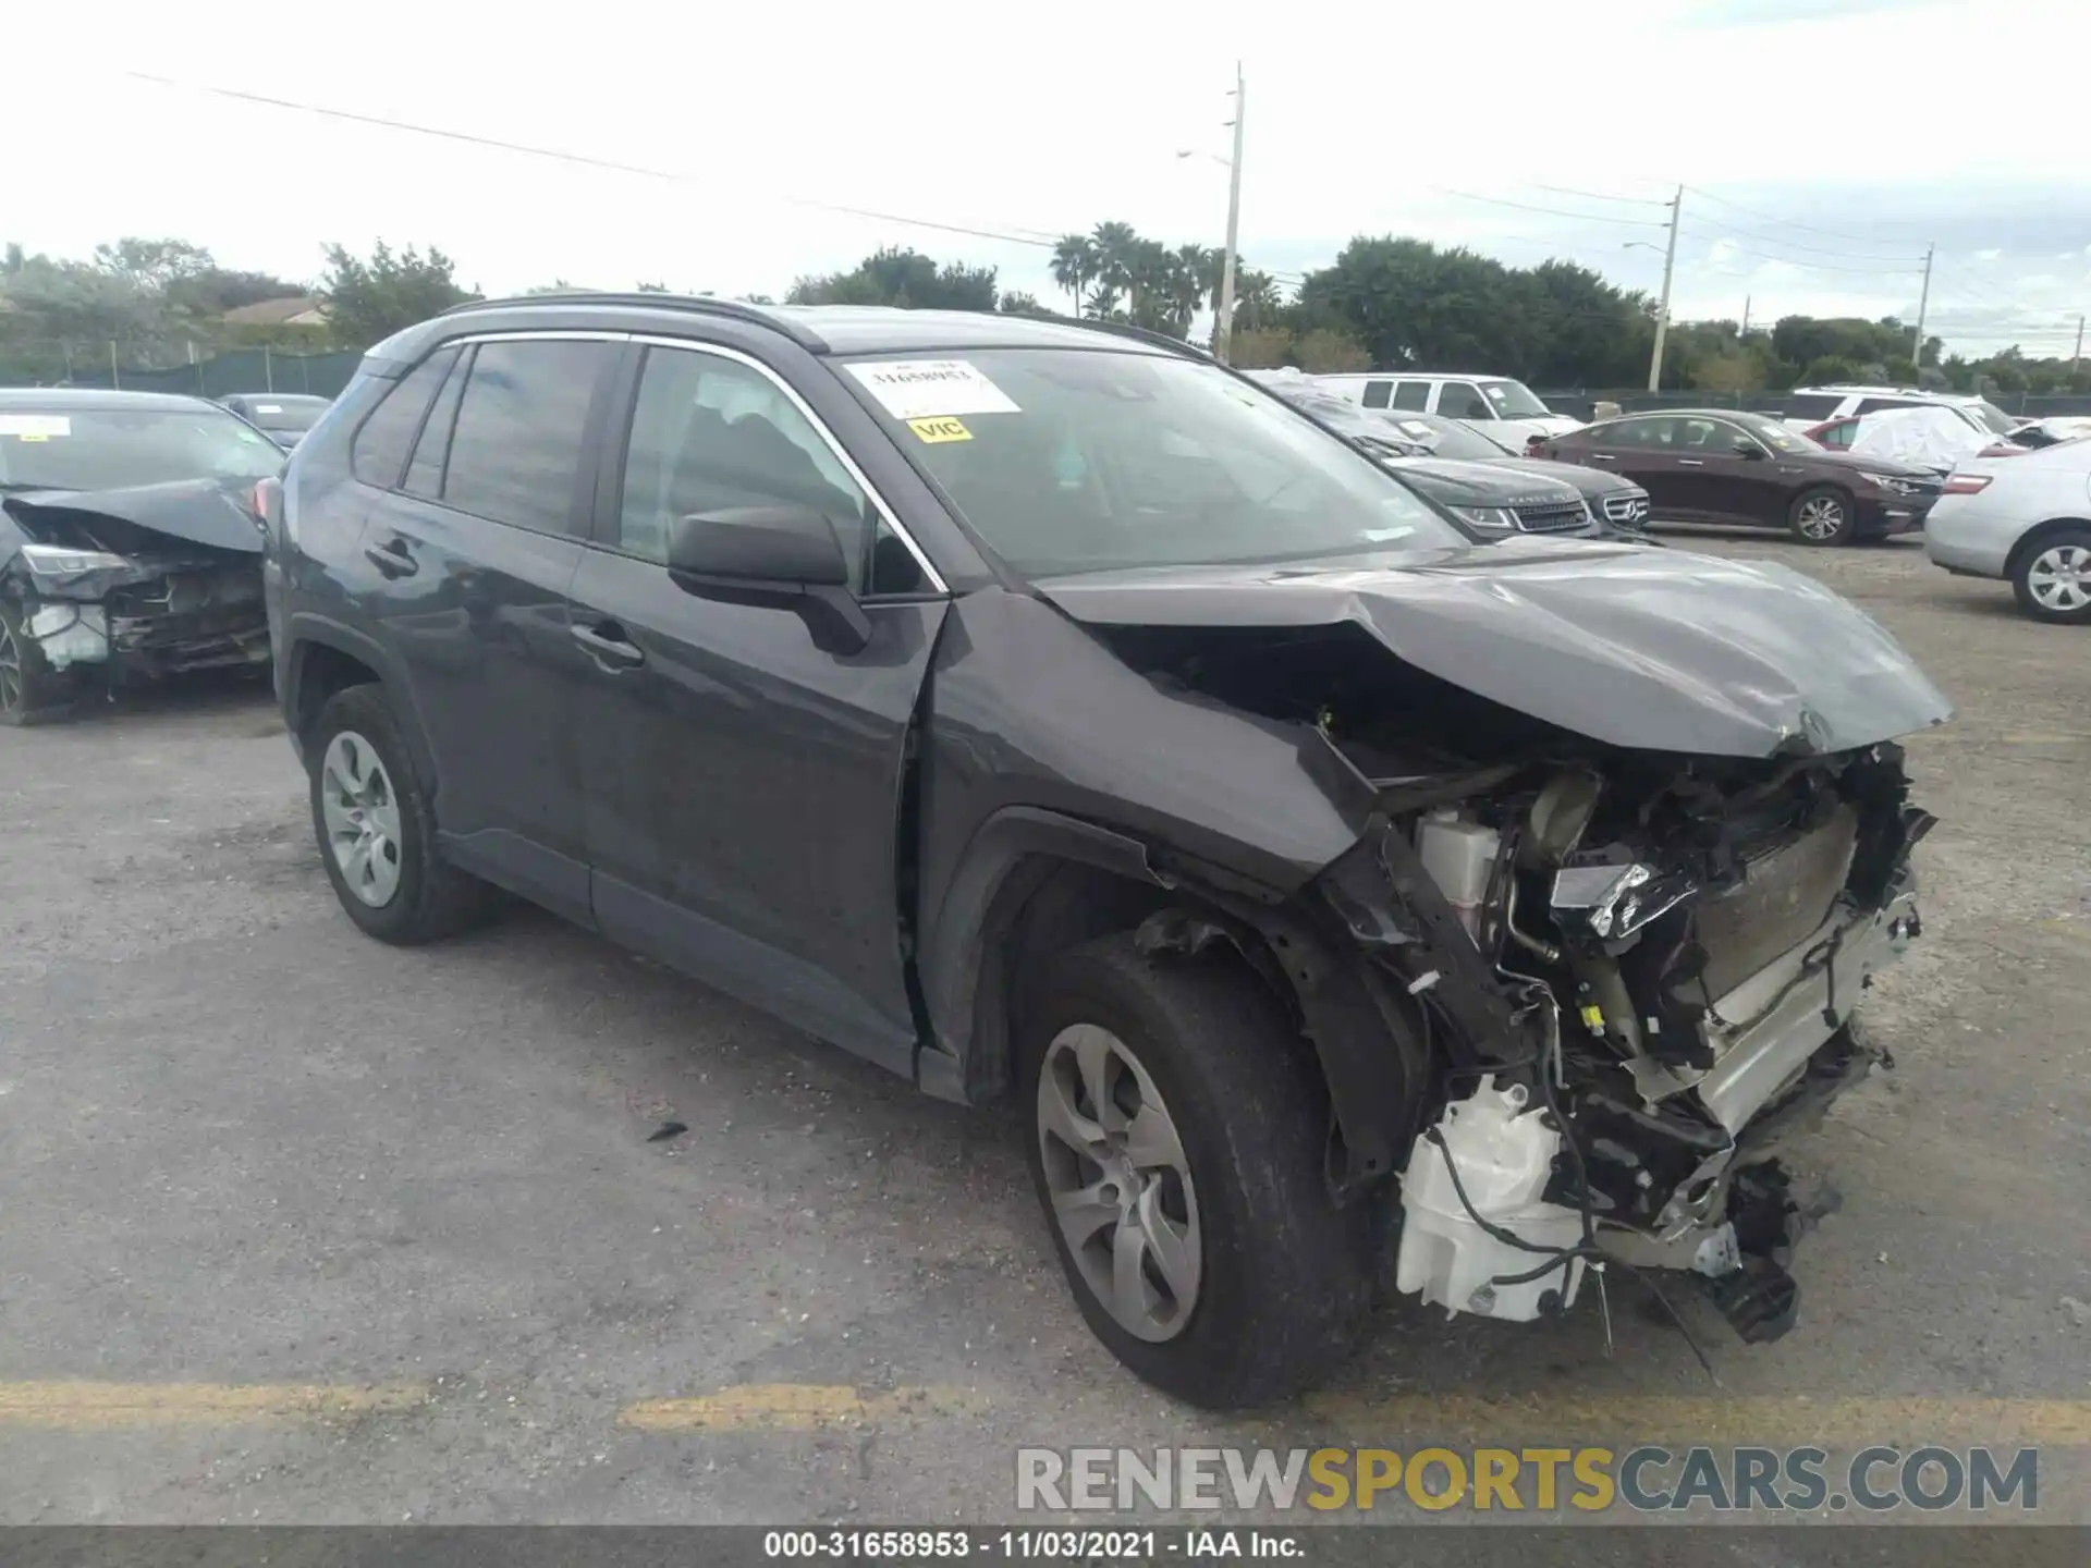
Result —
[[[399, 878], [391, 897], [381, 905], [366, 903], [349, 891], [339, 857], [328, 843], [322, 774], [328, 748], [345, 732], [362, 736], [376, 753], [389, 792], [397, 803]], [[412, 755], [399, 736], [399, 723], [381, 686], [349, 686], [335, 692], [320, 709], [320, 717], [314, 719], [312, 734], [305, 736], [305, 759], [309, 765], [312, 832], [320, 845], [326, 880], [335, 884], [335, 897], [341, 899], [349, 920], [366, 935], [397, 947], [414, 947], [454, 937], [487, 916], [493, 907], [493, 891], [435, 853], [435, 811], [414, 774]]]

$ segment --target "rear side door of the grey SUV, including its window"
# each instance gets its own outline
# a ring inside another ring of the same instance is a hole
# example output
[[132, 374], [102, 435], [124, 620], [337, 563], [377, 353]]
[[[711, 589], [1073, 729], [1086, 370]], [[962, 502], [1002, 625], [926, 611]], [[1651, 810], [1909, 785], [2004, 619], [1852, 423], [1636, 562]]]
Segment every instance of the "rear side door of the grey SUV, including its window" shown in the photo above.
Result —
[[594, 516], [596, 424], [621, 347], [466, 345], [362, 552], [437, 771], [450, 857], [573, 920], [588, 861], [567, 587]]

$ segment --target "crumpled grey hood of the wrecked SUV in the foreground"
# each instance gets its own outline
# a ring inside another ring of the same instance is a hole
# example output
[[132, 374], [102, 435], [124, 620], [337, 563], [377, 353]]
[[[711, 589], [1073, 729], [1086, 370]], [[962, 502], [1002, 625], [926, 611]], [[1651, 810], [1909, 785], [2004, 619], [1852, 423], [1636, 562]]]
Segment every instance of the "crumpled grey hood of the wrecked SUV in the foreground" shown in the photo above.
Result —
[[1834, 753], [1953, 717], [1869, 615], [1769, 562], [1512, 535], [1311, 567], [1037, 583], [1087, 625], [1355, 621], [1409, 665], [1593, 740], [1710, 757]]

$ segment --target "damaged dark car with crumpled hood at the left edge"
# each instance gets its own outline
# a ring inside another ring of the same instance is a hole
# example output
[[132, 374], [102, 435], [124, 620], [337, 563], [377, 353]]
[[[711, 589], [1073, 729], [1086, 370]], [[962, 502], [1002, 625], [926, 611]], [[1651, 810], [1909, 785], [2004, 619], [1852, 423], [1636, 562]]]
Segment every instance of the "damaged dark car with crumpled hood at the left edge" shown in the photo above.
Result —
[[201, 397], [0, 391], [0, 723], [90, 679], [266, 667], [253, 491], [282, 462]]

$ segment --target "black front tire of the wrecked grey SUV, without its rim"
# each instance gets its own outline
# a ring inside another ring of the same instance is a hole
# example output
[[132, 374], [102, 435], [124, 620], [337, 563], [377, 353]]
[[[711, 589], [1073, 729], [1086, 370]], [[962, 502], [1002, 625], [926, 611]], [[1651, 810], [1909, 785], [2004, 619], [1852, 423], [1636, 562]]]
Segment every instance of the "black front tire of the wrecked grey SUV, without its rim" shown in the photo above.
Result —
[[[1288, 1399], [1342, 1363], [1374, 1294], [1374, 1206], [1328, 1196], [1328, 1091], [1269, 991], [1238, 964], [1146, 958], [1129, 935], [1056, 955], [1027, 995], [1025, 1146], [1075, 1302], [1142, 1380], [1209, 1409]], [[1188, 1323], [1154, 1342], [1119, 1325], [1054, 1217], [1037, 1089], [1048, 1045], [1100, 1024], [1152, 1077], [1196, 1187], [1202, 1277]]]

